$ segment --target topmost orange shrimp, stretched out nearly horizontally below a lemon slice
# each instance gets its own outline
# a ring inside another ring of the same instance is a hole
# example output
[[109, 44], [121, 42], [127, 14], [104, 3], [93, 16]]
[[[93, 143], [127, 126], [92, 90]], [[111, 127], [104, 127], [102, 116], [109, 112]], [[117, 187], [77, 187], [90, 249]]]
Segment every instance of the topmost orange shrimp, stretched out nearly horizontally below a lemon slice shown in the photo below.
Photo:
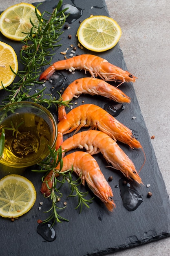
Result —
[[85, 70], [85, 73], [86, 71], [90, 72], [92, 77], [99, 76], [106, 81], [121, 81], [121, 83], [135, 82], [137, 79], [137, 77], [128, 71], [124, 71], [120, 67], [109, 63], [104, 58], [92, 54], [82, 54], [57, 61], [40, 75], [40, 80], [49, 79], [55, 70], [69, 70], [70, 72], [74, 70]]

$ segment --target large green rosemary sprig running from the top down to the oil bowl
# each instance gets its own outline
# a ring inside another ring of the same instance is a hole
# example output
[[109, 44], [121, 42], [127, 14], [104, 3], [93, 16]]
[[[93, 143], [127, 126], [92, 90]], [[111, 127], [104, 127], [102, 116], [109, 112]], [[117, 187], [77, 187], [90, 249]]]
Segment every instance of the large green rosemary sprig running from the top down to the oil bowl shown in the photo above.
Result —
[[[47, 106], [55, 104], [57, 107], [57, 104], [62, 105], [62, 103], [65, 106], [68, 106], [69, 101], [62, 102], [60, 93], [59, 99], [55, 99], [51, 96], [48, 99], [48, 97], [44, 97], [43, 94], [45, 88], [42, 90], [39, 89], [38, 93], [35, 94], [32, 94], [31, 91], [35, 85], [41, 85], [43, 83], [38, 81], [41, 67], [51, 63], [53, 55], [51, 50], [54, 50], [56, 47], [61, 45], [58, 44], [58, 42], [60, 41], [60, 36], [63, 33], [61, 28], [66, 20], [66, 16], [64, 15], [66, 9], [59, 11], [62, 5], [62, 0], [59, 0], [57, 7], [53, 10], [53, 13], [44, 11], [39, 15], [37, 10], [40, 4], [35, 8], [39, 24], [38, 26], [35, 26], [30, 19], [33, 27], [29, 34], [25, 33], [26, 36], [22, 40], [23, 46], [20, 51], [20, 62], [24, 66], [24, 70], [18, 71], [17, 74], [13, 72], [18, 77], [18, 82], [13, 82], [12, 86], [4, 88], [4, 90], [9, 92], [8, 97], [2, 101], [4, 105], [29, 99], [40, 104], [47, 103]], [[49, 56], [51, 56], [51, 58], [48, 60]], [[41, 99], [38, 99], [40, 95]], [[44, 97], [43, 100], [42, 97]]]

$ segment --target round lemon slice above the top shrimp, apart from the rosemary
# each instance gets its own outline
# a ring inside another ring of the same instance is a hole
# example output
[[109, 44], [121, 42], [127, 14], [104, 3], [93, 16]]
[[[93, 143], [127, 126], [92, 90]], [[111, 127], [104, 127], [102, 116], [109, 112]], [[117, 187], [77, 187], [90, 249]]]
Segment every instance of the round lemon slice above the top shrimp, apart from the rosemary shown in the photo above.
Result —
[[121, 37], [121, 28], [112, 18], [92, 16], [80, 24], [77, 37], [86, 49], [104, 52], [117, 44]]

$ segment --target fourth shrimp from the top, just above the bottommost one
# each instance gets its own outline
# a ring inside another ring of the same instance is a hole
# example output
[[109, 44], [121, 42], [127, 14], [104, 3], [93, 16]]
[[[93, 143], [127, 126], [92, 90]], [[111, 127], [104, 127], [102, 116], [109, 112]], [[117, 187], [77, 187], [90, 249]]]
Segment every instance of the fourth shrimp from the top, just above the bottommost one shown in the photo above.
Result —
[[85, 148], [91, 155], [101, 152], [113, 168], [121, 171], [128, 179], [132, 178], [139, 184], [143, 184], [135, 165], [118, 144], [104, 132], [98, 130], [79, 132], [66, 139], [61, 146], [64, 150], [63, 155], [73, 148]]

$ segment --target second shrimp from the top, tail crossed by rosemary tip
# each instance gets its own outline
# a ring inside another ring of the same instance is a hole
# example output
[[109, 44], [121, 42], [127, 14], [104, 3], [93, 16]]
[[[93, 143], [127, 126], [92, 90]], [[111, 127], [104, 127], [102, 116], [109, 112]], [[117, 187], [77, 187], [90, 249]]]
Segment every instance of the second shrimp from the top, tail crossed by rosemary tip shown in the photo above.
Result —
[[[102, 95], [119, 103], [130, 103], [130, 98], [124, 92], [101, 79], [93, 77], [80, 78], [68, 85], [62, 94], [62, 100], [71, 100], [82, 93]], [[65, 106], [62, 105], [58, 107], [58, 120], [60, 121], [63, 118], [66, 118], [66, 111]]]

